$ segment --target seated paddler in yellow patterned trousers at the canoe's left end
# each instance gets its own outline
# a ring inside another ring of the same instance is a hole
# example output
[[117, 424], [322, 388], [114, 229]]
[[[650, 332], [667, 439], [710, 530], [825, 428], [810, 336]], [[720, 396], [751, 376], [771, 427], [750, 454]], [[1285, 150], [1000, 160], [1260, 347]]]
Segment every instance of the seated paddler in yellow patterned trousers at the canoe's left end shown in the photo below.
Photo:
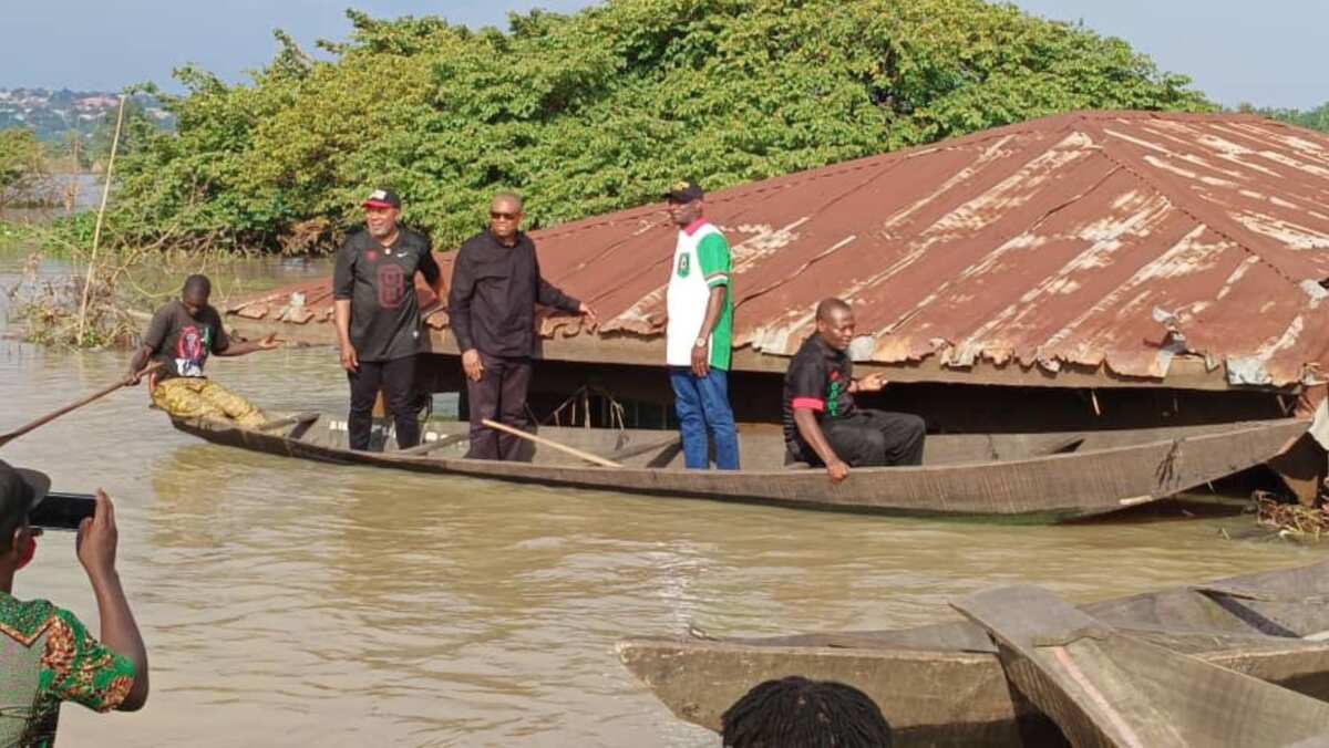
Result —
[[249, 400], [203, 376], [209, 353], [243, 356], [276, 348], [276, 336], [231, 343], [222, 328], [222, 316], [207, 300], [213, 283], [206, 275], [190, 275], [179, 299], [153, 315], [144, 344], [129, 364], [128, 383], [137, 384], [149, 359], [161, 361], [149, 379], [153, 404], [182, 419], [226, 419], [254, 428], [267, 417]]

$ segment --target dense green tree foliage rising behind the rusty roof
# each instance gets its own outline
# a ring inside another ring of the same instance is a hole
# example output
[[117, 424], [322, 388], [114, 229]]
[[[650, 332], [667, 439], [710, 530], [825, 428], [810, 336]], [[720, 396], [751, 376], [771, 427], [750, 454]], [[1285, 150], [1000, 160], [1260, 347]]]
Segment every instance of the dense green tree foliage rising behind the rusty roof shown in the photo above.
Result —
[[1209, 109], [1118, 39], [981, 0], [609, 0], [472, 32], [348, 12], [249, 85], [178, 72], [140, 124], [120, 243], [327, 250], [388, 185], [440, 247], [516, 189], [536, 226], [1087, 109]]

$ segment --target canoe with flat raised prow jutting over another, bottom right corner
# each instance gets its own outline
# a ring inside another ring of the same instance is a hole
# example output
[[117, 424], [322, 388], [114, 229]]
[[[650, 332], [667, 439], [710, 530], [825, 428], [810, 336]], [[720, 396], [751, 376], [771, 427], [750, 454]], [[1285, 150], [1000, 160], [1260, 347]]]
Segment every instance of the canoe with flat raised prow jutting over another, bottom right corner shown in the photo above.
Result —
[[1132, 636], [1031, 585], [952, 606], [1007, 680], [1084, 748], [1329, 745], [1329, 704]]

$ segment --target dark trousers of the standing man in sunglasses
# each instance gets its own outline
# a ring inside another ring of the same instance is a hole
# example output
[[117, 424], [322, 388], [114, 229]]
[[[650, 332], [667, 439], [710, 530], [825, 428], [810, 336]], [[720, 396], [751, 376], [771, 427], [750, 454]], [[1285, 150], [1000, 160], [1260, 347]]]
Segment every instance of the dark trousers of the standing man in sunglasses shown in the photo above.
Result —
[[517, 460], [522, 448], [520, 437], [501, 433], [481, 424], [482, 419], [525, 430], [526, 389], [530, 387], [530, 359], [508, 359], [480, 353], [485, 373], [480, 381], [466, 380], [466, 405], [470, 408], [470, 449], [474, 460]]

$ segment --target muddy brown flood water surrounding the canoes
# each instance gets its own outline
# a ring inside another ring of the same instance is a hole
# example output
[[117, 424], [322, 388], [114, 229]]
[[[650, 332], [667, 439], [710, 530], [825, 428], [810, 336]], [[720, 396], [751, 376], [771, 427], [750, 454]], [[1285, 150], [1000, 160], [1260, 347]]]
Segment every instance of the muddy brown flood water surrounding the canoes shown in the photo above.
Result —
[[[0, 283], [17, 264], [0, 255]], [[125, 365], [0, 340], [0, 430]], [[209, 373], [271, 409], [347, 399], [331, 349]], [[718, 745], [627, 674], [617, 639], [885, 628], [952, 618], [948, 599], [993, 585], [1087, 601], [1321, 554], [1249, 537], [1240, 515], [994, 526], [327, 466], [177, 433], [142, 391], [0, 457], [117, 502], [153, 692], [132, 715], [66, 707], [68, 745]], [[15, 594], [97, 628], [70, 534], [43, 538]]]

